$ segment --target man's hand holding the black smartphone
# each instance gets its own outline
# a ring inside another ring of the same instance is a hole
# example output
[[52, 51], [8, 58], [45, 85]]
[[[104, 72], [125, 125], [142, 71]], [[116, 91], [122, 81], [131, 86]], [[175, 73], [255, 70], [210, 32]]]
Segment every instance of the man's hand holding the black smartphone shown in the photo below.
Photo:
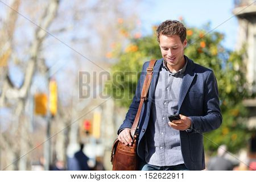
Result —
[[168, 122], [168, 125], [176, 130], [187, 130], [191, 127], [191, 119], [185, 117], [185, 115], [180, 114], [179, 120], [173, 120], [172, 122]]

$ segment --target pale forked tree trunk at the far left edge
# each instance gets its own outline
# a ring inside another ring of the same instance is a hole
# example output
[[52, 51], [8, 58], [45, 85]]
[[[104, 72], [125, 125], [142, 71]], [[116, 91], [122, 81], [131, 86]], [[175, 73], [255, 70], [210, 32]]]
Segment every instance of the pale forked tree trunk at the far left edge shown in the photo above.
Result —
[[[18, 10], [20, 5], [20, 1], [14, 1], [13, 6], [15, 10]], [[1, 96], [0, 96], [0, 106], [2, 107], [11, 107], [15, 115], [15, 122], [14, 130], [18, 130], [18, 132], [10, 132], [10, 133], [3, 133], [2, 137], [5, 138], [7, 143], [9, 143], [9, 146], [4, 148], [7, 152], [10, 153], [10, 159], [6, 160], [5, 168], [3, 169], [26, 169], [27, 168], [27, 155], [24, 155], [29, 145], [31, 144], [31, 139], [29, 138], [28, 133], [28, 119], [26, 119], [24, 108], [26, 104], [30, 101], [28, 99], [30, 88], [31, 88], [31, 82], [32, 78], [34, 76], [35, 70], [36, 70], [36, 64], [38, 64], [38, 55], [40, 52], [40, 48], [42, 48], [42, 43], [44, 42], [46, 35], [47, 35], [47, 29], [51, 25], [52, 20], [56, 16], [56, 11], [59, 7], [59, 1], [58, 0], [51, 0], [49, 1], [49, 5], [44, 9], [44, 16], [42, 19], [40, 19], [39, 26], [35, 29], [35, 36], [34, 40], [32, 40], [31, 46], [29, 47], [29, 53], [28, 53], [28, 60], [26, 64], [26, 68], [24, 68], [24, 79], [22, 85], [17, 88], [10, 78], [10, 72], [8, 69], [4, 72], [4, 80], [3, 80], [3, 88], [1, 89]], [[8, 30], [7, 34], [7, 40], [4, 42], [9, 46], [9, 49], [11, 49], [14, 46], [13, 39], [8, 40], [9, 38], [13, 38], [13, 34], [15, 31], [15, 23], [18, 14], [13, 11], [12, 9], [9, 10], [9, 17], [10, 19], [6, 20], [6, 24], [8, 22], [11, 22], [11, 29]], [[5, 29], [3, 28], [3, 32]], [[10, 55], [10, 54], [9, 54]], [[11, 56], [7, 56], [6, 62], [8, 62], [9, 59], [14, 57], [14, 53]], [[43, 63], [44, 65], [44, 63]], [[7, 63], [6, 65], [7, 66]], [[11, 105], [11, 106], [10, 106]], [[15, 125], [16, 124], [16, 125]], [[13, 134], [15, 133], [15, 134]], [[18, 139], [17, 139], [18, 138]], [[17, 143], [18, 140], [18, 143]], [[5, 142], [6, 143], [6, 142]], [[20, 156], [22, 156], [20, 158]], [[20, 160], [19, 160], [20, 159]], [[14, 165], [13, 165], [14, 164]]]

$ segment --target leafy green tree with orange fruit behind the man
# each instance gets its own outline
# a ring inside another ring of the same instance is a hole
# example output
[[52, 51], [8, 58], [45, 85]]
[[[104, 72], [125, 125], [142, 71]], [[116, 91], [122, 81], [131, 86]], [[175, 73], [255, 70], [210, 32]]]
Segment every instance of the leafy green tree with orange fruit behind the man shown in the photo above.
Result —
[[[156, 27], [153, 27], [155, 32]], [[246, 109], [242, 100], [251, 97], [245, 78], [245, 65], [241, 51], [229, 51], [221, 44], [224, 35], [204, 28], [187, 28], [188, 46], [185, 55], [205, 67], [212, 69], [216, 75], [220, 96], [223, 122], [220, 129], [204, 134], [205, 148], [214, 151], [220, 144], [227, 144], [232, 152], [245, 147], [250, 133], [245, 126]], [[136, 39], [131, 38], [126, 48], [119, 46], [113, 50], [117, 63], [112, 68], [112, 77], [105, 90], [115, 98], [119, 106], [129, 107], [134, 96], [139, 74], [144, 61], [159, 59], [159, 44], [156, 33]], [[120, 74], [118, 74], [120, 73]]]

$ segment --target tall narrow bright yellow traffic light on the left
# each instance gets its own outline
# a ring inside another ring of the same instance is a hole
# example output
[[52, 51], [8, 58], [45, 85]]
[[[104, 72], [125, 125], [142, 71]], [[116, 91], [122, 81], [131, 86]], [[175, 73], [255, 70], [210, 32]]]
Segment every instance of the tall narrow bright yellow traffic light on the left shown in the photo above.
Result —
[[49, 111], [52, 116], [57, 113], [57, 83], [55, 80], [49, 82]]

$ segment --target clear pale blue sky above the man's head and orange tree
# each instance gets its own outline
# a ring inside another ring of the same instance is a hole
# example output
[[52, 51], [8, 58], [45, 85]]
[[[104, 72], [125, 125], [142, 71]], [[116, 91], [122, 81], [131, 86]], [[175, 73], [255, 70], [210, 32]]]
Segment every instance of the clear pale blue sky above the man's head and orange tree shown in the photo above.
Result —
[[[211, 28], [219, 26], [216, 31], [224, 33], [224, 46], [234, 49], [238, 21], [232, 14], [233, 7], [234, 0], [147, 0], [143, 1], [139, 9], [139, 18], [143, 32], [150, 32], [153, 24], [159, 24], [166, 19], [179, 19], [180, 16], [188, 26], [203, 27], [211, 22]], [[225, 22], [227, 19], [229, 20]]]

